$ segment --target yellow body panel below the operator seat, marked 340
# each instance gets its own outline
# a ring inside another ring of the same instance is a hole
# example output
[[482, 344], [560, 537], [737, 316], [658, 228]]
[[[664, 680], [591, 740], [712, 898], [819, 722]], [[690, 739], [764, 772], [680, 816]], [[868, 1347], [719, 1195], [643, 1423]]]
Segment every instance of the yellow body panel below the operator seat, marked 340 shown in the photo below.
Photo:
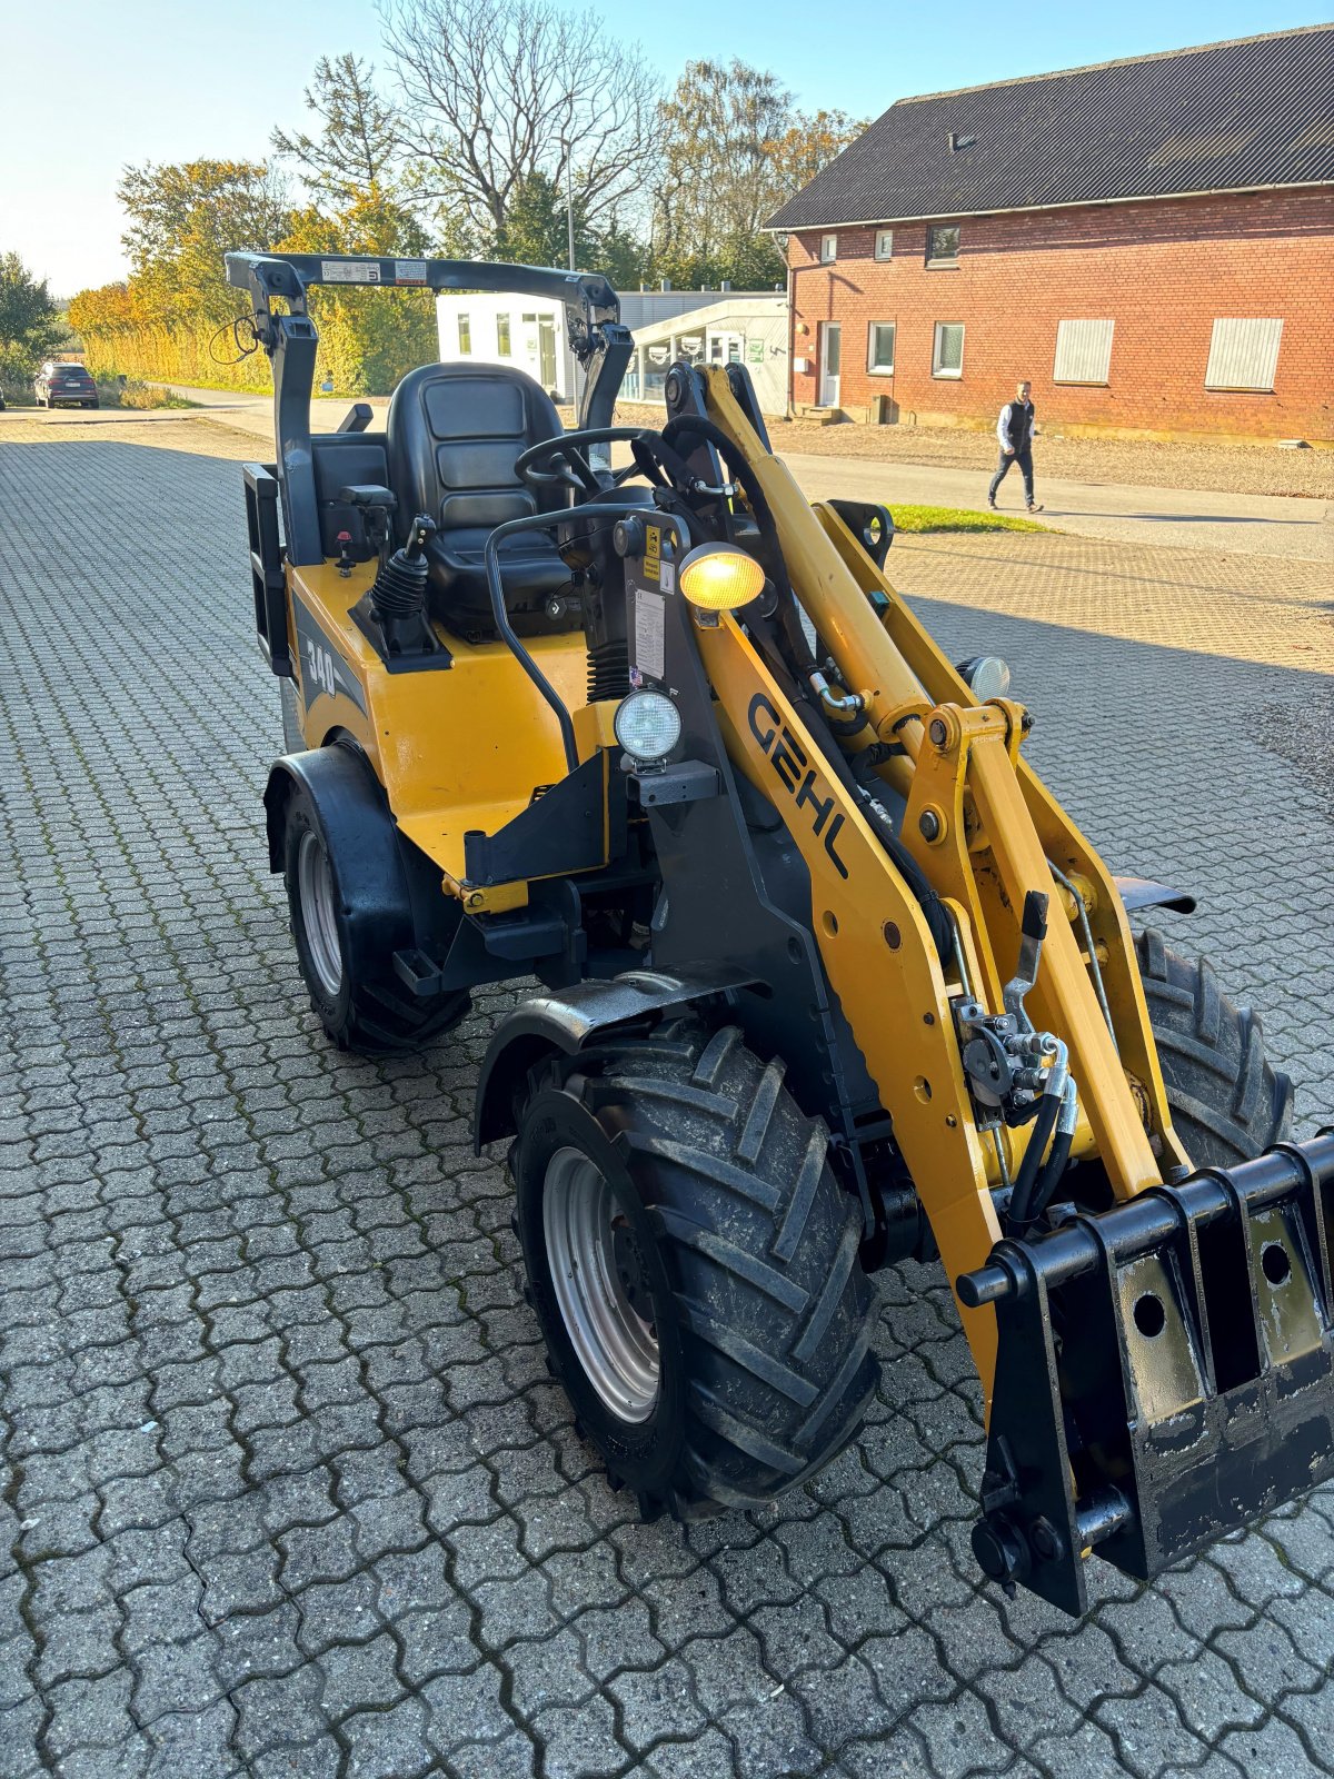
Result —
[[[322, 747], [334, 733], [350, 735], [368, 754], [388, 792], [398, 827], [459, 893], [464, 882], [462, 836], [494, 834], [532, 802], [539, 786], [566, 776], [555, 715], [503, 642], [462, 642], [436, 626], [454, 655], [448, 669], [391, 674], [350, 616], [375, 578], [375, 564], [354, 566], [345, 578], [331, 562], [288, 569], [295, 635], [306, 701], [302, 733]], [[297, 612], [304, 605], [306, 614]], [[311, 658], [311, 621], [350, 676]], [[580, 713], [587, 696], [583, 637], [532, 637], [528, 649], [546, 678]], [[589, 753], [598, 728], [580, 726]], [[526, 900], [526, 886], [486, 891], [491, 911]]]

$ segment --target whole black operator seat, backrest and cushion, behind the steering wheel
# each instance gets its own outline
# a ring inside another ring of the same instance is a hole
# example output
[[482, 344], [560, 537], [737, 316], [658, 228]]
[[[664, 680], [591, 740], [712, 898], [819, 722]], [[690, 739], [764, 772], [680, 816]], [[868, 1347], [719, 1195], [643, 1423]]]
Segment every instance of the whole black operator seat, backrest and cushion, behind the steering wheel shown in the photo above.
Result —
[[[505, 519], [539, 511], [514, 473], [519, 452], [562, 432], [550, 397], [507, 365], [422, 365], [393, 391], [390, 484], [400, 541], [414, 514], [439, 530], [427, 544], [430, 608], [459, 635], [494, 635], [482, 551]], [[560, 493], [541, 511], [564, 505]], [[551, 532], [521, 532], [500, 548], [505, 610], [518, 632], [578, 628], [578, 608], [551, 619], [546, 600], [569, 585]]]

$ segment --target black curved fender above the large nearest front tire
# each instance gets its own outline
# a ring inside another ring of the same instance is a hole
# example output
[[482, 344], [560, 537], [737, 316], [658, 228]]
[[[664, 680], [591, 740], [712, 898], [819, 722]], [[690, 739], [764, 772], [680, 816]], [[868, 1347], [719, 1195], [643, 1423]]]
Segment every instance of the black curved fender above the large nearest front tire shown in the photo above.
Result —
[[544, 1057], [573, 1057], [612, 1026], [640, 1026], [672, 1007], [727, 996], [754, 982], [740, 970], [628, 970], [534, 994], [507, 1014], [486, 1048], [473, 1103], [473, 1151], [514, 1135], [514, 1096]]

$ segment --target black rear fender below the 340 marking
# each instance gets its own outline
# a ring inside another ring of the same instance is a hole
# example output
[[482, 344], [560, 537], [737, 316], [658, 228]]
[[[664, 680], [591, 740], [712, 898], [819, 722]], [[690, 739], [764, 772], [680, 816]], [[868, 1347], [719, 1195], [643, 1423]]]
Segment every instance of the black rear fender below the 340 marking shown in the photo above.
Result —
[[315, 804], [324, 829], [347, 922], [349, 970], [356, 977], [382, 968], [384, 959], [416, 943], [407, 872], [384, 790], [352, 747], [283, 754], [263, 793], [270, 872], [285, 865], [286, 808], [297, 788]]

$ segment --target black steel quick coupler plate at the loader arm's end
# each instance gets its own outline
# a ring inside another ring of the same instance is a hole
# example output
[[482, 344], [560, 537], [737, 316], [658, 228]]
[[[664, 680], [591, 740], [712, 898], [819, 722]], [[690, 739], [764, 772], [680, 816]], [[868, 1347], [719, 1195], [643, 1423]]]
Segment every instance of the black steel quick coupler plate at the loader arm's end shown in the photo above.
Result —
[[973, 1550], [1081, 1614], [1334, 1475], [1334, 1130], [1204, 1169], [959, 1279], [1000, 1350]]

